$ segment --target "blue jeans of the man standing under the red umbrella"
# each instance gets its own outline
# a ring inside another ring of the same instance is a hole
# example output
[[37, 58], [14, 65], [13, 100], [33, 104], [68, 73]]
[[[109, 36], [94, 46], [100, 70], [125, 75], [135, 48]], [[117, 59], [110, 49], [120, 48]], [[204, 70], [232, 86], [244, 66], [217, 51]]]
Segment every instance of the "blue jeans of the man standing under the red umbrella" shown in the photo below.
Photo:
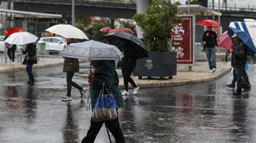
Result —
[[214, 47], [205, 47], [205, 53], [207, 56], [209, 68], [216, 68], [216, 53]]

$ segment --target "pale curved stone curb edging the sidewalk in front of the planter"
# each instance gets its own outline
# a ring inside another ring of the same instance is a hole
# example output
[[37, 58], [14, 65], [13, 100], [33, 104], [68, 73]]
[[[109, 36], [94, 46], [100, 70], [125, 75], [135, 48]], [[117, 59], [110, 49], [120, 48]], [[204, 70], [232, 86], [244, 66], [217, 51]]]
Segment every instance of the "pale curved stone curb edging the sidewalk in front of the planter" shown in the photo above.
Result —
[[[166, 82], [152, 82], [152, 83], [143, 83], [143, 84], [139, 84], [138, 83], [138, 87], [139, 88], [154, 88], [154, 87], [167, 87], [167, 86], [177, 86], [177, 85], [188, 85], [188, 84], [194, 84], [194, 83], [201, 83], [201, 82], [207, 82], [207, 81], [213, 81], [213, 80], [217, 80], [218, 78], [220, 78], [221, 76], [227, 74], [228, 72], [230, 72], [232, 69], [232, 67], [228, 67], [222, 71], [220, 71], [220, 73], [210, 76], [210, 77], [205, 77], [205, 78], [197, 78], [197, 79], [193, 79], [193, 80], [183, 80], [183, 81], [166, 81]], [[124, 89], [124, 85], [119, 85], [120, 89]], [[129, 85], [129, 89], [132, 89], [133, 87], [131, 85]]]

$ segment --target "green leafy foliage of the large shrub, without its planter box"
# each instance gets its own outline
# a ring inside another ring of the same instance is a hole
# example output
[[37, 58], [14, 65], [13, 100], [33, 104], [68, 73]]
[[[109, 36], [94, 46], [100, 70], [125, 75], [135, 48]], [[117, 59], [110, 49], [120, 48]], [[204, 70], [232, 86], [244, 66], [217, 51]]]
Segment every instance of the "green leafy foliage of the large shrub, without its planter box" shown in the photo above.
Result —
[[144, 38], [147, 50], [150, 52], [169, 51], [168, 41], [171, 38], [174, 24], [181, 23], [183, 18], [177, 17], [179, 2], [171, 3], [166, 1], [153, 0], [151, 5], [147, 6], [145, 12], [147, 15], [137, 13], [133, 20], [144, 31]]

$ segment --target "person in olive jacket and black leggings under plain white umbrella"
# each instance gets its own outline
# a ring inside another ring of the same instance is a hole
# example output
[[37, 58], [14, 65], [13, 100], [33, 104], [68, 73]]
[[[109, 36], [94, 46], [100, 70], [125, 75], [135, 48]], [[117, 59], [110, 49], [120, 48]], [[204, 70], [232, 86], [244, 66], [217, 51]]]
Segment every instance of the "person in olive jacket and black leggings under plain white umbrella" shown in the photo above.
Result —
[[[67, 38], [66, 45], [76, 42], [76, 39]], [[64, 48], [66, 48], [66, 45]], [[66, 84], [68, 93], [62, 97], [62, 101], [71, 101], [71, 88], [72, 86], [77, 88], [80, 92], [80, 97], [83, 98], [85, 95], [86, 88], [80, 87], [77, 83], [72, 81], [73, 75], [79, 72], [79, 61], [73, 58], [64, 58], [63, 72], [66, 72]]]

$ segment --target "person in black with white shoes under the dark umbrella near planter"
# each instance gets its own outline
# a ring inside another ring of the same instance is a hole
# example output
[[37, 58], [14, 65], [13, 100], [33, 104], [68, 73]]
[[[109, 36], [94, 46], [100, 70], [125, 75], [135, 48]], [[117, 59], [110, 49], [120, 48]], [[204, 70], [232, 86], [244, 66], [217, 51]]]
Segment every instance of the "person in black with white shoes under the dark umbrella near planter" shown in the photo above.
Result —
[[137, 52], [136, 48], [133, 46], [133, 43], [126, 40], [121, 39], [121, 47], [123, 48], [123, 55], [124, 59], [119, 62], [120, 64], [117, 65], [117, 68], [122, 68], [122, 74], [124, 78], [124, 92], [122, 92], [122, 95], [129, 95], [128, 92], [128, 83], [130, 82], [133, 86], [133, 94], [137, 94], [139, 91], [139, 87], [136, 85], [136, 83], [132, 80], [131, 74], [133, 71], [133, 68], [136, 67], [136, 59], [137, 59]]

